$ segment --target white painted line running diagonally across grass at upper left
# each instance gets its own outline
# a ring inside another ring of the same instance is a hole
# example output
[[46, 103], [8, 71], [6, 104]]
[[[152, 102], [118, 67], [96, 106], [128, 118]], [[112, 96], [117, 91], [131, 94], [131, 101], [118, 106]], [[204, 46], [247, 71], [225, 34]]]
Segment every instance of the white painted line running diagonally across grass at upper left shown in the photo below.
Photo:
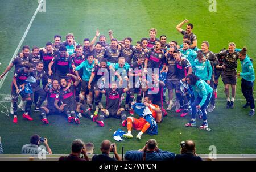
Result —
[[[16, 54], [18, 53], [18, 51], [19, 51], [19, 49], [20, 49], [20, 46], [23, 44], [23, 41], [24, 41], [24, 39], [25, 39], [26, 36], [27, 36], [27, 32], [30, 30], [30, 27], [31, 27], [31, 25], [32, 25], [32, 23], [33, 23], [33, 21], [34, 21], [34, 19], [35, 19], [36, 14], [38, 14], [38, 10], [39, 10], [39, 8], [42, 6], [43, 1], [44, 1], [44, 0], [41, 0], [41, 1], [39, 2], [38, 8], [36, 8], [36, 11], [35, 11], [34, 15], [32, 16], [32, 18], [31, 18], [31, 20], [30, 20], [30, 23], [28, 24], [27, 29], [26, 29], [26, 31], [24, 32], [24, 35], [22, 36], [22, 39], [21, 39], [20, 42], [19, 42], [19, 45], [17, 46], [16, 50], [14, 51], [14, 54], [13, 54], [13, 57], [11, 58], [11, 61], [13, 61], [14, 57], [16, 57]], [[10, 61], [9, 65], [11, 64], [11, 61]], [[6, 76], [8, 75], [8, 73], [9, 73], [9, 72], [7, 72], [7, 74], [6, 74], [6, 75], [3, 77], [3, 79], [0, 81], [0, 89], [2, 88], [3, 82], [5, 81]]]

